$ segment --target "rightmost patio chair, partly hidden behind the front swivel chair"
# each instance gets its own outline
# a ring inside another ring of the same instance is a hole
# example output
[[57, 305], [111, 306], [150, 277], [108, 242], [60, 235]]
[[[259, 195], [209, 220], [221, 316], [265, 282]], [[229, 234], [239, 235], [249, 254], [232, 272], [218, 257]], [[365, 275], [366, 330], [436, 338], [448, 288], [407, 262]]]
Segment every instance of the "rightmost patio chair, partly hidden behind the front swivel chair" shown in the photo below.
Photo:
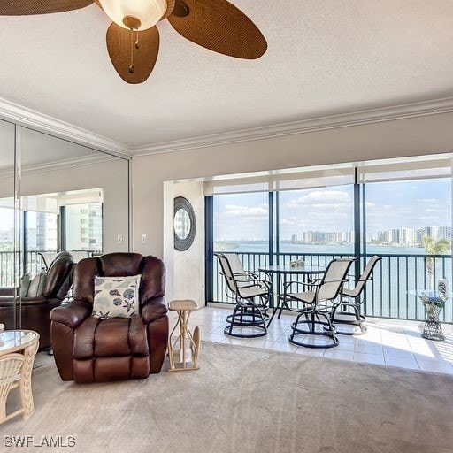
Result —
[[[335, 326], [338, 324], [349, 325], [352, 326], [352, 330], [339, 330], [337, 328], [337, 334], [365, 334], [365, 316], [360, 313], [360, 308], [365, 302], [365, 297], [363, 295], [365, 293], [366, 282], [372, 280], [374, 267], [380, 262], [381, 259], [382, 257], [378, 257], [377, 255], [371, 257], [368, 260], [368, 263], [366, 263], [364, 272], [357, 280], [355, 288], [342, 289], [342, 301], [334, 307], [334, 310], [332, 311], [332, 320], [334, 321]], [[360, 330], [357, 330], [356, 326], [358, 326]]]

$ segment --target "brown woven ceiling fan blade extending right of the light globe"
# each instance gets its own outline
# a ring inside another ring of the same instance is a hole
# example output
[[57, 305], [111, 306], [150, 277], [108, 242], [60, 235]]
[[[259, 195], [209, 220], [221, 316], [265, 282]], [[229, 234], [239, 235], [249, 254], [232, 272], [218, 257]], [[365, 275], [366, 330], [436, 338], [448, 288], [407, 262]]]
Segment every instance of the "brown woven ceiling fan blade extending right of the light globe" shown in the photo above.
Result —
[[260, 58], [267, 50], [257, 26], [226, 0], [176, 0], [168, 17], [191, 42], [236, 58]]

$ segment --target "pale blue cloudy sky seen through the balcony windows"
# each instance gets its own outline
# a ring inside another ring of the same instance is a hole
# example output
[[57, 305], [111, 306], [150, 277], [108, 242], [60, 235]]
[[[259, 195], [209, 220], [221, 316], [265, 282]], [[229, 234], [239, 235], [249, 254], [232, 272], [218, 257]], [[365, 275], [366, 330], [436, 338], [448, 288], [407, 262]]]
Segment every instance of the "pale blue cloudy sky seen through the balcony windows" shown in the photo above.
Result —
[[[353, 187], [280, 192], [280, 238], [303, 231], [352, 231]], [[214, 196], [214, 240], [267, 240], [268, 194]], [[366, 184], [367, 232], [451, 225], [451, 180]]]

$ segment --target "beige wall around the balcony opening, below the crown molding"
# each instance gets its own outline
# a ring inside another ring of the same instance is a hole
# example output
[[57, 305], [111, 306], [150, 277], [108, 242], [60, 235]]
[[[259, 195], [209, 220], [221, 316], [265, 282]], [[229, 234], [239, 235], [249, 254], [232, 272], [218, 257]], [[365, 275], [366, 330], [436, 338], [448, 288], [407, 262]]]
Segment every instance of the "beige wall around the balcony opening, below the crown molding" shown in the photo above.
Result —
[[[453, 113], [443, 113], [134, 157], [133, 248], [163, 257], [165, 238], [170, 234], [173, 238], [173, 229], [166, 231], [173, 226], [173, 200], [167, 193], [164, 205], [164, 181], [451, 151]], [[141, 234], [147, 235], [146, 244], [141, 243]], [[199, 248], [200, 262], [203, 253]], [[168, 273], [173, 274], [172, 260], [166, 265]], [[183, 280], [177, 273], [172, 279]], [[197, 287], [199, 284], [196, 281]]]

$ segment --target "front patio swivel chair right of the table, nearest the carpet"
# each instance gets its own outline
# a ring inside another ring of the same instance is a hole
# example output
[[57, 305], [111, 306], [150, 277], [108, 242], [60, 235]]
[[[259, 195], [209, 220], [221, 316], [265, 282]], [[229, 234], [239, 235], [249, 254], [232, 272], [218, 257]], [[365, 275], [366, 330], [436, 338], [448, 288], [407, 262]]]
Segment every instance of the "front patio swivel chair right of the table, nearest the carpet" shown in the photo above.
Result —
[[[310, 280], [311, 290], [302, 293], [290, 293], [288, 291], [294, 285], [300, 285], [298, 281], [288, 281], [285, 287], [285, 297], [288, 301], [302, 302], [303, 306], [291, 309], [299, 314], [296, 321], [291, 325], [292, 332], [289, 342], [306, 348], [334, 348], [339, 341], [335, 335], [335, 327], [332, 323], [332, 311], [340, 303], [339, 295], [347, 280], [350, 265], [356, 258], [333, 259], [327, 265], [326, 273], [321, 279]], [[301, 318], [304, 318], [301, 320]], [[325, 320], [321, 320], [325, 319]], [[306, 327], [303, 327], [306, 326]], [[317, 328], [317, 327], [320, 328]], [[297, 340], [299, 335], [323, 335], [330, 339], [327, 343], [316, 343], [310, 340]]]

